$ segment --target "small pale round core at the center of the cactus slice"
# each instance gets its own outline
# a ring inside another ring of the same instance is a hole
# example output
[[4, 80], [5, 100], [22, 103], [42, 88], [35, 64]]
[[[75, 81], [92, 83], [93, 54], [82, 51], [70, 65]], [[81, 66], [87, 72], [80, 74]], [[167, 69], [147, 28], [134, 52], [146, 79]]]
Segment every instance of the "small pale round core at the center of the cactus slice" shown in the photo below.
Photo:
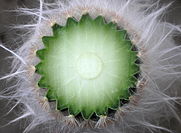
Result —
[[95, 79], [102, 72], [102, 64], [95, 53], [85, 53], [77, 59], [76, 69], [83, 79]]

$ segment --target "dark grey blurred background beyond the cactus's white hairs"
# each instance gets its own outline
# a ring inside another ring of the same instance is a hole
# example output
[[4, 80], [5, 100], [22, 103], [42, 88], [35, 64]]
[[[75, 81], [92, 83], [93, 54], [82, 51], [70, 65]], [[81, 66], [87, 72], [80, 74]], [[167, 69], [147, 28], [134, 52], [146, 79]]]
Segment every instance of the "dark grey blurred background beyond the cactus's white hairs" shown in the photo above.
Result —
[[[181, 0], [161, 0], [161, 3], [174, 2], [173, 5], [167, 10], [163, 20], [174, 23], [176, 25], [181, 25]], [[6, 42], [6, 47], [15, 50], [17, 48], [16, 41], [12, 41], [15, 36], [18, 34], [11, 33], [9, 25], [16, 24], [19, 21], [25, 19], [24, 17], [18, 17], [16, 13], [8, 13], [4, 12], [4, 10], [16, 9], [17, 7], [36, 7], [38, 6], [38, 2], [36, 0], [0, 0], [0, 40], [2, 42]], [[28, 19], [26, 18], [28, 21]], [[7, 32], [8, 31], [8, 32]], [[10, 39], [9, 39], [10, 38]], [[178, 35], [175, 37], [175, 40], [181, 44], [181, 36]], [[8, 43], [11, 42], [11, 43]], [[7, 57], [10, 54], [0, 48], [0, 77], [10, 72], [11, 60], [7, 61]], [[5, 84], [6, 83], [6, 84]], [[0, 92], [3, 88], [11, 86], [11, 82], [0, 81]], [[22, 129], [26, 126], [26, 120], [21, 122], [17, 122], [6, 127], [2, 127], [8, 123], [8, 121], [13, 120], [18, 115], [18, 108], [16, 107], [13, 112], [6, 115], [10, 107], [12, 107], [14, 103], [8, 103], [8, 101], [1, 100], [0, 101], [0, 133], [22, 133]], [[180, 109], [181, 110], [181, 109]], [[181, 113], [180, 113], [181, 115]], [[170, 127], [173, 130], [176, 130], [176, 133], [181, 133], [181, 125], [179, 125], [175, 120], [171, 120]], [[140, 132], [141, 133], [141, 132]], [[163, 132], [165, 133], [165, 132]]]

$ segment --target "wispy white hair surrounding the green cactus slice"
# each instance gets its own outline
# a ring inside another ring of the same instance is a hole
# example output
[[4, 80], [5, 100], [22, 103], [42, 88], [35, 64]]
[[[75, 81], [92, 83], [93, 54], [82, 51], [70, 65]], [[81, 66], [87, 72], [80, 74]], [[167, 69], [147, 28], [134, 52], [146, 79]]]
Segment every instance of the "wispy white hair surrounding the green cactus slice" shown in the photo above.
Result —
[[[18, 8], [19, 15], [31, 18], [27, 24], [13, 26], [13, 29], [26, 31], [21, 34], [23, 43], [16, 51], [0, 44], [14, 57], [11, 73], [0, 80], [16, 78], [14, 86], [0, 92], [0, 98], [16, 100], [16, 105], [23, 105], [21, 115], [8, 124], [27, 118], [29, 125], [24, 133], [36, 130], [46, 133], [174, 132], [162, 124], [163, 121], [169, 123], [171, 118], [181, 124], [175, 106], [181, 104], [180, 88], [175, 85], [181, 78], [181, 45], [173, 40], [181, 28], [161, 21], [170, 5], [161, 6], [158, 0], [40, 0], [39, 8]], [[143, 62], [138, 84], [140, 92], [135, 94], [138, 97], [117, 110], [114, 124], [106, 127], [101, 126], [106, 124], [106, 118], [100, 119], [93, 128], [84, 128], [84, 123], [78, 124], [74, 117], [52, 111], [44, 92], [37, 86], [39, 75], [34, 73], [34, 66], [39, 62], [36, 50], [43, 47], [42, 36], [52, 35], [51, 25], [65, 25], [66, 19], [72, 16], [79, 20], [86, 12], [93, 18], [102, 15], [106, 21], [114, 21], [126, 29]]]

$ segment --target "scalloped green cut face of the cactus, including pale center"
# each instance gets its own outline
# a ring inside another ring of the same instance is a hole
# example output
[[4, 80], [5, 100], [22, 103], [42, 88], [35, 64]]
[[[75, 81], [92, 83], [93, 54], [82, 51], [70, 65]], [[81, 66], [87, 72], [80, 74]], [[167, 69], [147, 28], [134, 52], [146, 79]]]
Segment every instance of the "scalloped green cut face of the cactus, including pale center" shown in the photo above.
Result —
[[37, 51], [41, 62], [36, 72], [42, 76], [39, 87], [48, 88], [46, 97], [56, 100], [58, 110], [68, 108], [69, 114], [90, 119], [93, 113], [107, 115], [108, 108], [120, 106], [120, 99], [129, 99], [139, 66], [125, 30], [88, 14], [52, 29], [54, 35], [44, 36], [45, 48]]

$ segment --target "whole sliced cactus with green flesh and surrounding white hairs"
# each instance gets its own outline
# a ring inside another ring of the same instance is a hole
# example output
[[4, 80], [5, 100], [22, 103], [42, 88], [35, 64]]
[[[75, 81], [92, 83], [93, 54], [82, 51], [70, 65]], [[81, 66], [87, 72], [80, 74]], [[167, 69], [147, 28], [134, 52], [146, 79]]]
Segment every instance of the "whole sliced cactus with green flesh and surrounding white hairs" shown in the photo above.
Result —
[[181, 123], [181, 46], [173, 41], [181, 29], [160, 20], [170, 4], [159, 5], [39, 0], [17, 9], [31, 21], [14, 25], [23, 31], [8, 38], [20, 43], [16, 51], [0, 44], [14, 56], [0, 80], [16, 78], [0, 98], [21, 105], [9, 124], [26, 118], [24, 133], [172, 132], [172, 118]]

